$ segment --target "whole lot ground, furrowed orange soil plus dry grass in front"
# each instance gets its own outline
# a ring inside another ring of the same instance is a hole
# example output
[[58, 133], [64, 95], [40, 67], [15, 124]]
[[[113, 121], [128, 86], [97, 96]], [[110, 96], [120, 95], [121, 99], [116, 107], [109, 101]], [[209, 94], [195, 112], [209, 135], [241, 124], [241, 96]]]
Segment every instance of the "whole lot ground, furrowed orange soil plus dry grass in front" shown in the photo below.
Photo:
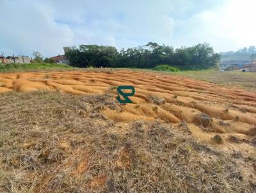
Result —
[[256, 190], [255, 93], [131, 71], [3, 73], [0, 91], [3, 191]]

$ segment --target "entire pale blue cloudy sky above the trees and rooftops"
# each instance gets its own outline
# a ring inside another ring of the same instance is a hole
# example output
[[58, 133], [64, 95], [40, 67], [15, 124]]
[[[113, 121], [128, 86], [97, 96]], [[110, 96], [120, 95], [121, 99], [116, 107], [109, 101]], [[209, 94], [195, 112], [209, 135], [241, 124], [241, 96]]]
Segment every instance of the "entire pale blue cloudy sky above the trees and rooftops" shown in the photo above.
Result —
[[55, 56], [80, 44], [256, 45], [255, 0], [0, 0], [0, 8], [4, 56]]

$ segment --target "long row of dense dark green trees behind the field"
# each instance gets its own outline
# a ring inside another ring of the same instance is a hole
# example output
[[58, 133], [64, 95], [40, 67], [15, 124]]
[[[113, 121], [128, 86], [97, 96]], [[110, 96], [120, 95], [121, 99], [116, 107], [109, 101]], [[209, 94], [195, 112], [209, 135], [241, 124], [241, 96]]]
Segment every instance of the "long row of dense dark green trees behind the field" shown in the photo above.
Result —
[[122, 49], [112, 46], [80, 45], [66, 52], [72, 66], [154, 68], [166, 64], [179, 69], [206, 69], [218, 66], [220, 55], [207, 43], [173, 49], [168, 45], [149, 42], [145, 46]]

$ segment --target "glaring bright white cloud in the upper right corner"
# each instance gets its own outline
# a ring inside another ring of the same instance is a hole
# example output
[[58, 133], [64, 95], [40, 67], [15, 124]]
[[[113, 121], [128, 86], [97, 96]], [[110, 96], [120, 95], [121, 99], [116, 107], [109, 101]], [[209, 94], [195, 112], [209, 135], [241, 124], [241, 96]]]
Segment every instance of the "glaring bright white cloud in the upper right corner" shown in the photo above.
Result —
[[209, 42], [217, 51], [256, 45], [256, 1], [228, 0], [213, 10], [204, 10], [182, 22], [183, 42]]

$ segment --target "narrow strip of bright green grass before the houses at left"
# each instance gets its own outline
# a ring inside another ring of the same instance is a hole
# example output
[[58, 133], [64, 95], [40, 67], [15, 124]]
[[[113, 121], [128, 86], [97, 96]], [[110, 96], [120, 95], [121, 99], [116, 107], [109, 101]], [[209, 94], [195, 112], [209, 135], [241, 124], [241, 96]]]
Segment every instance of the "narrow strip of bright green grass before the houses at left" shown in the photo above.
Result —
[[29, 63], [29, 64], [0, 64], [0, 72], [17, 72], [31, 70], [47, 70], [47, 69], [71, 69], [71, 66], [65, 64], [50, 64], [50, 63]]

